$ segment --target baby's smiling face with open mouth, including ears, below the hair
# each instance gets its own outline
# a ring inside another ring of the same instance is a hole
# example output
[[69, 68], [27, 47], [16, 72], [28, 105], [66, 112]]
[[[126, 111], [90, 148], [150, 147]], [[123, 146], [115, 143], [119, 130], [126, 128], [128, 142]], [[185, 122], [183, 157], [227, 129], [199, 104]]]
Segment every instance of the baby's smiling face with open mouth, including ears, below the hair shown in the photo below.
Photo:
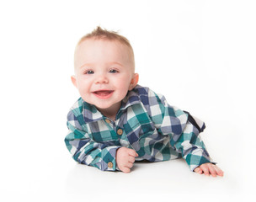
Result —
[[84, 40], [75, 52], [75, 74], [81, 97], [98, 109], [120, 107], [136, 85], [131, 52], [116, 40]]

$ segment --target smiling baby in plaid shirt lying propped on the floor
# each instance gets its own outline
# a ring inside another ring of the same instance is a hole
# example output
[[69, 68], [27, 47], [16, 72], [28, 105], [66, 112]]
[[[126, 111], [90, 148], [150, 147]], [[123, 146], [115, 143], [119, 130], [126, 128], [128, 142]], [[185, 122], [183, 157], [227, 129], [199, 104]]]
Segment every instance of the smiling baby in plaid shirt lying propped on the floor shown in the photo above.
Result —
[[79, 163], [130, 173], [135, 161], [183, 157], [191, 171], [216, 177], [200, 132], [205, 124], [138, 85], [130, 42], [98, 27], [77, 44], [72, 83], [81, 98], [67, 115], [67, 149]]

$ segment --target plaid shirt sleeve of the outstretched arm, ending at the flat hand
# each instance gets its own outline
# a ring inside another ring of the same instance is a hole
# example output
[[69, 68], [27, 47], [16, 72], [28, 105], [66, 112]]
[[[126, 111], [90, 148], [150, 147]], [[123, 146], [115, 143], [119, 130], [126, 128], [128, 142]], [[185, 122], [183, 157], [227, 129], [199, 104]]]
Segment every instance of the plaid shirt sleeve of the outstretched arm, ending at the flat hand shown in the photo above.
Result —
[[[162, 95], [155, 94], [155, 96], [157, 96], [157, 104], [152, 106], [154, 109], [151, 110], [152, 120], [159, 133], [171, 137], [170, 145], [173, 150], [181, 153], [191, 171], [205, 162], [211, 162], [211, 157], [200, 138], [205, 123], [188, 112], [168, 105]], [[211, 163], [215, 164], [215, 162]]]

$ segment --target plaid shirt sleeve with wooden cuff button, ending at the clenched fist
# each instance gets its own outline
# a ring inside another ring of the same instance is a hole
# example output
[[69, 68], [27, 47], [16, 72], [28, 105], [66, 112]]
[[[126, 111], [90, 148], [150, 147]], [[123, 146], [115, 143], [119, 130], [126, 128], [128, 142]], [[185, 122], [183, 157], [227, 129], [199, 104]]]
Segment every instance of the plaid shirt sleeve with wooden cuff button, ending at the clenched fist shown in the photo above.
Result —
[[80, 125], [79, 118], [71, 110], [67, 115], [68, 134], [65, 143], [75, 161], [88, 166], [98, 167], [103, 171], [115, 171], [116, 150], [120, 146], [107, 146], [93, 141], [85, 125]]

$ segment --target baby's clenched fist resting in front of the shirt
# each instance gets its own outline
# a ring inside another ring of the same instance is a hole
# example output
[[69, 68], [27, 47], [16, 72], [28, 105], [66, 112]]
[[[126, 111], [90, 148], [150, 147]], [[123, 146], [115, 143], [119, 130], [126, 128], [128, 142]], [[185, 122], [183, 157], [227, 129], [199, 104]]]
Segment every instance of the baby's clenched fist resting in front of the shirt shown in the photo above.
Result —
[[116, 164], [119, 169], [124, 173], [130, 173], [131, 167], [133, 167], [133, 163], [135, 162], [135, 157], [139, 155], [136, 151], [132, 149], [128, 149], [126, 147], [120, 147], [116, 151]]

